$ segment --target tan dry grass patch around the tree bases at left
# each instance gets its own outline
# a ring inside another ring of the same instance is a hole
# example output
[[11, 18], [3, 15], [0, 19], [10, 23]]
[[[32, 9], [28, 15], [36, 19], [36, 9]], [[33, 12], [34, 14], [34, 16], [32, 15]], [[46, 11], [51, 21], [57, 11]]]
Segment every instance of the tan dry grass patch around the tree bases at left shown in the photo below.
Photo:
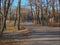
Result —
[[20, 26], [21, 30], [17, 29], [17, 26], [13, 26], [13, 22], [7, 21], [7, 28], [4, 30], [4, 33], [21, 33], [23, 35], [28, 35], [29, 31], [24, 26]]

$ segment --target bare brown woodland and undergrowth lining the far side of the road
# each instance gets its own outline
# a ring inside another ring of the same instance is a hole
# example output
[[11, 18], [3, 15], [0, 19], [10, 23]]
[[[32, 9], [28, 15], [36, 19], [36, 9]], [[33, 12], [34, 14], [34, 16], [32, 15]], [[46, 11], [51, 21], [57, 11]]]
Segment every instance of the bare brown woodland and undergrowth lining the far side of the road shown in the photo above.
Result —
[[45, 0], [45, 2], [43, 0], [28, 0], [24, 6], [21, 5], [21, 0], [17, 1], [17, 6], [13, 7], [14, 0], [0, 0], [1, 37], [5, 30], [26, 29], [20, 25], [24, 22], [60, 27], [60, 0]]

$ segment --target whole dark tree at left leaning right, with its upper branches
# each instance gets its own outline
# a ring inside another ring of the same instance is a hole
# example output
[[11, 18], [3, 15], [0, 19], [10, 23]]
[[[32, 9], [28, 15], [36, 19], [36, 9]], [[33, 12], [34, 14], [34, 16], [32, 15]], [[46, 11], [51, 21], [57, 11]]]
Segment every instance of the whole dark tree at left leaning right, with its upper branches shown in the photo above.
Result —
[[1, 37], [3, 36], [3, 31], [6, 29], [6, 20], [7, 20], [7, 14], [9, 7], [11, 6], [12, 3], [10, 3], [11, 0], [3, 0], [3, 5], [4, 5], [4, 19], [3, 19], [3, 25], [2, 25], [2, 32], [1, 32]]

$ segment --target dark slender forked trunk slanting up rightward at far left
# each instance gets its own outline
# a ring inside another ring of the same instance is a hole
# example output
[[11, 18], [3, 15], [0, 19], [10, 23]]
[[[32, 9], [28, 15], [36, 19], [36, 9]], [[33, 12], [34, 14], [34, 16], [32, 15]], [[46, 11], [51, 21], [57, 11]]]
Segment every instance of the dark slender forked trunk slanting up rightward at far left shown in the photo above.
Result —
[[[9, 7], [10, 7], [10, 0], [8, 0], [8, 5], [7, 5], [7, 7], [6, 7], [6, 1], [5, 1], [4, 4], [5, 4], [5, 5], [4, 5], [4, 14], [5, 14], [5, 16], [4, 16], [4, 20], [3, 20], [1, 37], [3, 36], [3, 31], [4, 31], [4, 29], [6, 29], [6, 19], [7, 19], [8, 10], [9, 10]], [[5, 10], [5, 9], [6, 9], [6, 10]]]

